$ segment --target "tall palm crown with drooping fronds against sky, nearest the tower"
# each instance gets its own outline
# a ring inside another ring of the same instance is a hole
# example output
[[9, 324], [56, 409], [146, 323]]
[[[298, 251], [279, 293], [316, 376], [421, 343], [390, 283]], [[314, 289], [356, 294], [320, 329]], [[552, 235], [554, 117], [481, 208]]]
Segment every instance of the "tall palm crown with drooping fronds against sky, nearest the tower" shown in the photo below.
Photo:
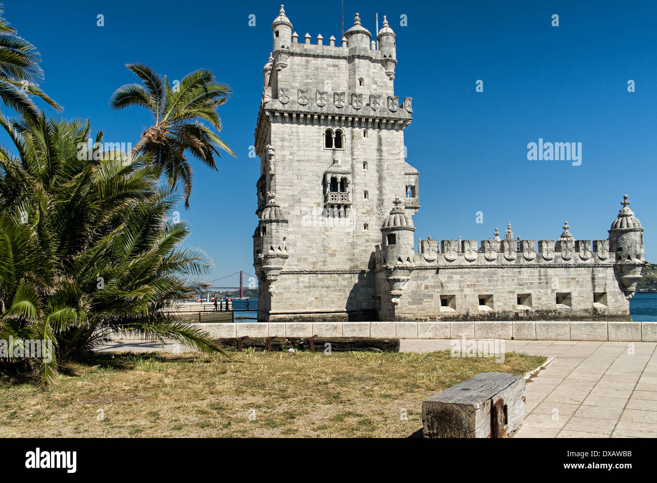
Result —
[[153, 126], [144, 131], [131, 154], [149, 154], [155, 164], [162, 166], [171, 187], [175, 188], [179, 181], [183, 183], [185, 208], [189, 208], [192, 168], [185, 152], [189, 150], [213, 170], [217, 170], [214, 162], [214, 155], [219, 156], [217, 148], [235, 156], [217, 135], [221, 131], [217, 107], [227, 101], [232, 93], [231, 88], [215, 81], [211, 70], [191, 72], [177, 89], [171, 89], [166, 76], [162, 78], [145, 64], [127, 64], [127, 68], [143, 83], [127, 84], [116, 89], [110, 106], [115, 110], [142, 106], [154, 116]]

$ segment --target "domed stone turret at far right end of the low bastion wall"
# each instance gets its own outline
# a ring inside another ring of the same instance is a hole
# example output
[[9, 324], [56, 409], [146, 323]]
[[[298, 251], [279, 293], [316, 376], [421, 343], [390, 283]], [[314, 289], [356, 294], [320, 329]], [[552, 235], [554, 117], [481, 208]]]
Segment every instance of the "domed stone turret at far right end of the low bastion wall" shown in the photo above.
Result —
[[628, 196], [623, 196], [623, 208], [609, 229], [609, 251], [616, 254], [616, 274], [625, 298], [632, 298], [641, 279], [643, 259], [643, 231], [641, 221], [629, 209]]

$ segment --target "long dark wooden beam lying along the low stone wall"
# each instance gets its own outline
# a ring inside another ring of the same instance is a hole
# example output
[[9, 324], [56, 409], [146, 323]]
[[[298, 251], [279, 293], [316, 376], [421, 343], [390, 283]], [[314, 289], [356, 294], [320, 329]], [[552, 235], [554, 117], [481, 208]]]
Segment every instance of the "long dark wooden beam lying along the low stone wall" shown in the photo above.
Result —
[[[312, 343], [311, 343], [312, 342]], [[254, 348], [264, 351], [314, 350], [315, 352], [399, 352], [399, 339], [370, 337], [240, 337], [220, 338], [223, 348], [244, 350]], [[328, 345], [330, 344], [330, 346]]]

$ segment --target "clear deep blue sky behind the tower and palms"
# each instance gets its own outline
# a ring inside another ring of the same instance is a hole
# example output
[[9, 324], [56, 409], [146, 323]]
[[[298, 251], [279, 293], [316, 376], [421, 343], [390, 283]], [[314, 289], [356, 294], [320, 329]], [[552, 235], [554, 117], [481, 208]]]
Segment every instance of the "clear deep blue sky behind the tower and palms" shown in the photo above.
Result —
[[[576, 3], [577, 5], [572, 5]], [[397, 34], [397, 95], [413, 97], [405, 131], [420, 171], [416, 237], [488, 239], [511, 221], [522, 239], [606, 239], [627, 193], [657, 256], [657, 5], [654, 1], [459, 1], [445, 5], [345, 1], [374, 32], [386, 14]], [[215, 277], [252, 273], [257, 158], [249, 158], [279, 1], [5, 0], [5, 16], [43, 57], [43, 89], [66, 118], [91, 118], [105, 140], [136, 143], [147, 112], [108, 106], [144, 62], [170, 80], [210, 68], [235, 94], [219, 108], [221, 137], [238, 155], [219, 172], [194, 162], [189, 246], [214, 259]], [[340, 1], [285, 3], [303, 38], [340, 35]], [[97, 26], [104, 15], [104, 27]], [[248, 16], [256, 15], [256, 26]], [[408, 25], [400, 26], [401, 14]], [[559, 15], [558, 27], [551, 26]], [[484, 92], [476, 93], [476, 80]], [[636, 91], [627, 92], [634, 80]], [[581, 166], [529, 161], [539, 138], [582, 143]], [[0, 142], [7, 143], [6, 136]], [[476, 223], [476, 212], [484, 223]]]

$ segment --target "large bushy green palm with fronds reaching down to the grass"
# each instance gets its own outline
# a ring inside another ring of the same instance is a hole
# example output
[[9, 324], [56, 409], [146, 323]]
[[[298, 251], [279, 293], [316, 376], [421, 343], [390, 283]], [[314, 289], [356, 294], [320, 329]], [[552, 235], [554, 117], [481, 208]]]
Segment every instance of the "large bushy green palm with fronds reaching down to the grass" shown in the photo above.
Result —
[[180, 196], [158, 188], [162, 167], [144, 155], [79, 156], [88, 121], [41, 113], [0, 124], [18, 152], [0, 147], [0, 338], [52, 342], [51, 360], [30, 359], [41, 382], [112, 333], [222, 352], [217, 339], [171, 315], [173, 300], [207, 286], [196, 277], [212, 265], [181, 248], [189, 227], [169, 221]]

